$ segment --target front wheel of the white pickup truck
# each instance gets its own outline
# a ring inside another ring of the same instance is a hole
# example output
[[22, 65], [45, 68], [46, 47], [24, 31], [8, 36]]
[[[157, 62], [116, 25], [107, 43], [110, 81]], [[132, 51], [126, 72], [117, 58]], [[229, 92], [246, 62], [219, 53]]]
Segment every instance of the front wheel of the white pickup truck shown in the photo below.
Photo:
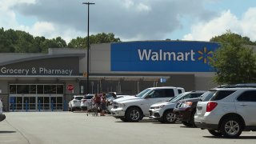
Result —
[[138, 107], [131, 107], [126, 113], [126, 119], [128, 122], [138, 122], [142, 120], [142, 110]]

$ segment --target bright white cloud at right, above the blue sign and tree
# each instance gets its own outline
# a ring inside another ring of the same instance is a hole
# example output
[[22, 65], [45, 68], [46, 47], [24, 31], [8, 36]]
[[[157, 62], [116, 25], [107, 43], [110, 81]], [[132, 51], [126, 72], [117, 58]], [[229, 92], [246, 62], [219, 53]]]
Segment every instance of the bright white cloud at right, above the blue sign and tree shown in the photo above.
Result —
[[226, 30], [247, 36], [251, 41], [256, 41], [256, 8], [250, 8], [238, 19], [230, 10], [222, 12], [218, 18], [209, 22], [198, 22], [191, 26], [190, 34], [186, 34], [183, 40], [209, 41], [210, 38], [224, 34]]

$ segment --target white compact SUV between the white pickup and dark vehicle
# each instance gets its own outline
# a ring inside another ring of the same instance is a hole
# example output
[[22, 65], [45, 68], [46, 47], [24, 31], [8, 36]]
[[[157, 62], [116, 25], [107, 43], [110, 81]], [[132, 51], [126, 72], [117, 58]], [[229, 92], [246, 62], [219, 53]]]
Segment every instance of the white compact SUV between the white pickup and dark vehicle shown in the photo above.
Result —
[[178, 102], [181, 99], [198, 98], [205, 92], [206, 91], [202, 90], [189, 91], [182, 94], [178, 94], [178, 96], [170, 98], [170, 100], [166, 102], [155, 103], [154, 105], [150, 106], [149, 117], [158, 120], [158, 122], [173, 123], [176, 121], [175, 114], [173, 112], [176, 102]]

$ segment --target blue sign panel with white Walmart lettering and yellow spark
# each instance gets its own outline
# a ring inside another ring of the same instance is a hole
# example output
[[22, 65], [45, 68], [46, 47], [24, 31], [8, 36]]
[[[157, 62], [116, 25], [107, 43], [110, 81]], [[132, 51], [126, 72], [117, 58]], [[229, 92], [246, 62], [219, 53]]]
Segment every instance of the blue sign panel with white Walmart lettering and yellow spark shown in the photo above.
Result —
[[111, 44], [111, 71], [210, 72], [214, 42]]

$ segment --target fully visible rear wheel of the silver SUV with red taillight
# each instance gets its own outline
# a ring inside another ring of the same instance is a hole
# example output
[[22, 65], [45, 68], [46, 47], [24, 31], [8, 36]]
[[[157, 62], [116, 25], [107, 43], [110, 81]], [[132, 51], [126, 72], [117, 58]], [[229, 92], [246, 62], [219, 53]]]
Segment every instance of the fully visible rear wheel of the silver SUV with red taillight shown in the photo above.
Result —
[[226, 138], [238, 138], [242, 133], [242, 122], [237, 117], [228, 117], [222, 121], [220, 131]]

